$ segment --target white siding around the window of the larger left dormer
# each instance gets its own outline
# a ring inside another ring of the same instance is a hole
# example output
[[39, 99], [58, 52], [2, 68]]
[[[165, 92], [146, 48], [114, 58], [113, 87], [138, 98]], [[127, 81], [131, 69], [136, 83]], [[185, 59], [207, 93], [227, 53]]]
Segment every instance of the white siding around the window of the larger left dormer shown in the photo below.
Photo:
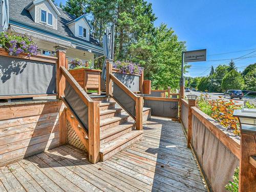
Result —
[[[53, 15], [53, 26], [49, 26], [47, 24], [41, 23], [41, 18], [40, 18], [40, 13], [41, 13], [41, 9], [50, 12]], [[41, 2], [40, 4], [35, 6], [35, 22], [42, 24], [42, 25], [46, 25], [49, 28], [54, 28], [57, 30], [57, 13], [55, 12], [55, 10], [53, 9], [53, 7], [51, 6], [51, 4], [46, 0]]]

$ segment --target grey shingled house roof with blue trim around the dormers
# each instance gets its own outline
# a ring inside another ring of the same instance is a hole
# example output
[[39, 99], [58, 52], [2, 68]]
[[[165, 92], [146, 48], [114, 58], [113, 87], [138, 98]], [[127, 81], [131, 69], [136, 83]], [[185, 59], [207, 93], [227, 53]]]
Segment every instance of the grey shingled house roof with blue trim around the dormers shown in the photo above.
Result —
[[20, 26], [26, 25], [28, 28], [33, 26], [34, 28], [40, 29], [41, 31], [46, 31], [47, 33], [59, 34], [59, 36], [67, 36], [68, 38], [72, 38], [79, 42], [85, 42], [86, 44], [91, 44], [92, 46], [97, 46], [97, 49], [100, 49], [100, 52], [103, 53], [102, 47], [100, 46], [98, 40], [94, 39], [90, 35], [90, 40], [81, 39], [80, 37], [76, 37], [72, 31], [66, 26], [67, 23], [75, 20], [76, 17], [67, 13], [59, 7], [56, 7], [60, 12], [60, 16], [57, 19], [57, 30], [53, 28], [49, 28], [45, 25], [41, 25], [35, 23], [29, 11], [25, 8], [28, 5], [32, 4], [34, 1], [32, 0], [9, 0], [9, 19], [10, 24], [20, 24]]

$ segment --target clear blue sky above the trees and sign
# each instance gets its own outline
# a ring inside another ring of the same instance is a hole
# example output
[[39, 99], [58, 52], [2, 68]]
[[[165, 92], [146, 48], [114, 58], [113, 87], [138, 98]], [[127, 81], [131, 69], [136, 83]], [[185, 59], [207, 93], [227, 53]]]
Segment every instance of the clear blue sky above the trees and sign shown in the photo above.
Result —
[[[55, 0], [56, 3], [65, 0]], [[204, 76], [210, 67], [234, 59], [238, 70], [256, 62], [256, 1], [148, 0], [161, 23], [172, 27], [187, 50], [207, 49], [207, 62], [190, 63], [186, 76]], [[245, 51], [246, 50], [246, 51]], [[229, 53], [235, 52], [235, 53]], [[228, 53], [228, 54], [222, 54]], [[216, 55], [218, 54], [218, 55]], [[245, 55], [245, 56], [244, 56]], [[211, 61], [217, 60], [217, 61]]]

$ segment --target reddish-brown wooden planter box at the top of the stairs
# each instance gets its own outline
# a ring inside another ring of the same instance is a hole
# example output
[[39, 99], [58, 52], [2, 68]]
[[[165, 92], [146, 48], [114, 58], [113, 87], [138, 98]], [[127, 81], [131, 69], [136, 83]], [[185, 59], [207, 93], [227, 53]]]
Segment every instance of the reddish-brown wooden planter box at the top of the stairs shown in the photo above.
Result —
[[100, 72], [95, 69], [74, 69], [69, 71], [84, 91], [96, 90], [100, 94]]

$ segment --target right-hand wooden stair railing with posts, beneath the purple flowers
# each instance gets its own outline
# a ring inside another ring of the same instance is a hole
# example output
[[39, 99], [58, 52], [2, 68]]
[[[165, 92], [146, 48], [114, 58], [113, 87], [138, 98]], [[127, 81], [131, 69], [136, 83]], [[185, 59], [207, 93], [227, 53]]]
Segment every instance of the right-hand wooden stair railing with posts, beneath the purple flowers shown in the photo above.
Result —
[[[113, 94], [112, 83], [115, 83], [116, 86], [122, 90], [124, 97], [130, 97], [135, 103], [135, 114], [131, 112], [131, 109], [127, 108], [127, 105], [124, 102], [117, 98]], [[112, 73], [112, 63], [110, 61], [106, 62], [106, 95], [112, 96], [122, 108], [131, 115], [136, 121], [136, 129], [142, 130], [143, 124], [143, 98], [135, 95], [131, 90], [129, 90], [119, 79], [117, 79]]]

